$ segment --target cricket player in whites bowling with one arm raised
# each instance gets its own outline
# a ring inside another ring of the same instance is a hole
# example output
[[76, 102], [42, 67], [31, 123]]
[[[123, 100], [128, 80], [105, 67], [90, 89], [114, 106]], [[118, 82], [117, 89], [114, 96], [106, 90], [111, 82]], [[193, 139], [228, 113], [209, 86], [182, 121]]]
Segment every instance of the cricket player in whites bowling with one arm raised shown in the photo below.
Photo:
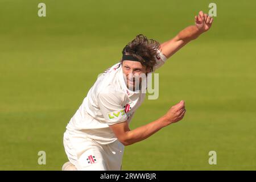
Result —
[[183, 119], [181, 100], [166, 114], [147, 125], [130, 130], [129, 123], [146, 96], [143, 77], [161, 67], [191, 40], [208, 31], [213, 18], [203, 11], [195, 25], [180, 31], [162, 44], [140, 34], [122, 51], [119, 63], [97, 78], [64, 133], [68, 170], [121, 170], [124, 146], [150, 137], [163, 127]]

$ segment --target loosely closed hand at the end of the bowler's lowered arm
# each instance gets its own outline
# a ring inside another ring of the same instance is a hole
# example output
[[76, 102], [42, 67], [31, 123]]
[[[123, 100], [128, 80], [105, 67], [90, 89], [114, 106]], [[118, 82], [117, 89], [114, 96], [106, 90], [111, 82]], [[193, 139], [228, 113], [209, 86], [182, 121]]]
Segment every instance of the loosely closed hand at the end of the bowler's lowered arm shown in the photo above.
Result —
[[165, 115], [168, 125], [180, 121], [184, 117], [185, 112], [184, 101], [180, 101], [178, 104], [172, 106]]

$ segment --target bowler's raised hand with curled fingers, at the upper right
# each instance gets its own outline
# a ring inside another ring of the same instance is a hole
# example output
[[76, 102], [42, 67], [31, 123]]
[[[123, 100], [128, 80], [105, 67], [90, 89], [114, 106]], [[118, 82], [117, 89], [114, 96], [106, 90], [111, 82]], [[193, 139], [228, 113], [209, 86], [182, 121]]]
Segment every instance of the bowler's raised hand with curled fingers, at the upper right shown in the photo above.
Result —
[[212, 26], [212, 22], [213, 22], [213, 18], [207, 14], [204, 14], [203, 11], [200, 11], [199, 15], [195, 16], [196, 27], [201, 32], [208, 31], [210, 29], [210, 27]]

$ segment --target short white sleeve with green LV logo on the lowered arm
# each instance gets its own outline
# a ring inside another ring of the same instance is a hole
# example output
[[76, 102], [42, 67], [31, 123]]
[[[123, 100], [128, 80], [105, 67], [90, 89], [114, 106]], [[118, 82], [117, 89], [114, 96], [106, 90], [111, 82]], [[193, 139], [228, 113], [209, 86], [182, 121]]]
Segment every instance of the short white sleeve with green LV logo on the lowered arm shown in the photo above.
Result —
[[122, 93], [101, 92], [98, 94], [98, 106], [108, 125], [124, 122], [127, 115], [122, 106]]

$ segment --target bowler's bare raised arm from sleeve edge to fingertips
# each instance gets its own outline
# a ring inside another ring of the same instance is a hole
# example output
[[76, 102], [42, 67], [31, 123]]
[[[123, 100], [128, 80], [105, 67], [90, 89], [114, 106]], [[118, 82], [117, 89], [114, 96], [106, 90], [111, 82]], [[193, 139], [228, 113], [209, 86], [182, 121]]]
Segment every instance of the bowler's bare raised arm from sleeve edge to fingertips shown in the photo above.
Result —
[[208, 31], [212, 26], [213, 18], [203, 11], [199, 12], [198, 16], [195, 16], [195, 25], [188, 26], [181, 30], [173, 39], [168, 40], [160, 44], [162, 53], [167, 57], [171, 57], [181, 47], [185, 46], [191, 40], [198, 38], [201, 34]]

